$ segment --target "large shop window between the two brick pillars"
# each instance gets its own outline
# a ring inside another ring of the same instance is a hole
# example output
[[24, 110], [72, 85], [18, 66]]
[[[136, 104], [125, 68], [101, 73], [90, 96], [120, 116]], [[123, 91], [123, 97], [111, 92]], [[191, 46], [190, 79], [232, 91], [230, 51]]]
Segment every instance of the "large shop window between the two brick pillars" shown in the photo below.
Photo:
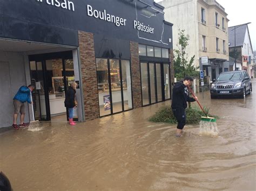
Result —
[[100, 116], [132, 109], [130, 60], [96, 59]]

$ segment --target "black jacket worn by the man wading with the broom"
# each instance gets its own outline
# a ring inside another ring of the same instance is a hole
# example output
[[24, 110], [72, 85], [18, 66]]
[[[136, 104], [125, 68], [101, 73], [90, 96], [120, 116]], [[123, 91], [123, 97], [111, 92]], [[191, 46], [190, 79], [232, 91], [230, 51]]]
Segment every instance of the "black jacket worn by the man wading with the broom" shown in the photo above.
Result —
[[187, 108], [187, 102], [196, 101], [189, 96], [187, 87], [182, 81], [177, 82], [172, 89], [172, 108]]

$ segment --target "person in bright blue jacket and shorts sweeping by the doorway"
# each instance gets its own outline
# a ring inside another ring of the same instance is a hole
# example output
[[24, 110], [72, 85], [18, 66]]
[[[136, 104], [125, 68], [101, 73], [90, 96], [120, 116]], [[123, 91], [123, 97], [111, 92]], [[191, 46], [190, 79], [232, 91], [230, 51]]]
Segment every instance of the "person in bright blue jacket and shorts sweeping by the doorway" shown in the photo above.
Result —
[[[14, 123], [12, 127], [14, 129], [19, 129], [25, 127], [24, 118], [25, 118], [25, 102], [33, 104], [31, 100], [31, 91], [35, 87], [32, 85], [22, 86], [19, 88], [17, 94], [14, 96]], [[18, 114], [21, 113], [21, 124], [17, 125]]]

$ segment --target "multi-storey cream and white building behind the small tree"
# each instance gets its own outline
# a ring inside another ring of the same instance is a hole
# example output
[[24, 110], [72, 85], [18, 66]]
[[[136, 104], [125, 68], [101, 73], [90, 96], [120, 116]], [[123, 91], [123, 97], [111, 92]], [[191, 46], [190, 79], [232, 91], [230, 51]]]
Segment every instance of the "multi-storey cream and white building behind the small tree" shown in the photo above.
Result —
[[214, 0], [163, 0], [165, 20], [173, 23], [173, 49], [177, 49], [178, 30], [190, 36], [187, 46], [188, 58], [195, 55], [196, 66], [200, 58], [208, 56], [208, 63], [200, 67], [209, 79], [229, 70], [227, 13]]

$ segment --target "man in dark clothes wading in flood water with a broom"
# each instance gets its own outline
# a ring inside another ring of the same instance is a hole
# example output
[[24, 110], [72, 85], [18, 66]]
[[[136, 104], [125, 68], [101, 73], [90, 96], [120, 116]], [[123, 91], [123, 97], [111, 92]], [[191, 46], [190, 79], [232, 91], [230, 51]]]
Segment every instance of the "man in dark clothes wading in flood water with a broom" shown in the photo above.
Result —
[[176, 137], [180, 137], [186, 124], [187, 102], [197, 101], [197, 97], [190, 97], [187, 86], [193, 82], [192, 77], [185, 77], [183, 81], [177, 82], [172, 89], [172, 112], [177, 119]]

